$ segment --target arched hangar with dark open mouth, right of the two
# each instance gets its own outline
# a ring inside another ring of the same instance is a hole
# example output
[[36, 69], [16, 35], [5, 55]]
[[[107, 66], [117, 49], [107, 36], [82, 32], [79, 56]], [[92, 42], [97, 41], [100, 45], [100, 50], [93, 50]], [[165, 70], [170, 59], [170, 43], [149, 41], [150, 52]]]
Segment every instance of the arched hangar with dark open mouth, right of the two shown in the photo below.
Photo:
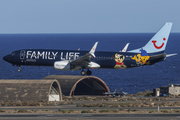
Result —
[[103, 95], [104, 92], [109, 92], [106, 83], [95, 76], [50, 75], [43, 78], [46, 79], [58, 80], [65, 96]]

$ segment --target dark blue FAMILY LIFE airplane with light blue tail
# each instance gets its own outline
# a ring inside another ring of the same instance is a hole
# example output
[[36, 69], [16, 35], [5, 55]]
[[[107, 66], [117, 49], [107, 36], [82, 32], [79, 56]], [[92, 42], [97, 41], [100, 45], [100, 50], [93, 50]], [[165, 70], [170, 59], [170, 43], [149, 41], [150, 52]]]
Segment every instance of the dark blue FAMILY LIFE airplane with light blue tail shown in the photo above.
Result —
[[[144, 47], [126, 52], [95, 52], [98, 44], [96, 42], [89, 52], [81, 50], [21, 49], [13, 51], [11, 54], [4, 56], [3, 59], [12, 65], [18, 66], [18, 71], [21, 71], [20, 66], [22, 65], [52, 66], [55, 70], [81, 70], [81, 75], [91, 75], [92, 72], [89, 69], [127, 69], [153, 65], [164, 61], [166, 57], [176, 55], [176, 53], [169, 55], [164, 53], [171, 27], [171, 22], [165, 23]], [[87, 69], [87, 71], [84, 69]]]

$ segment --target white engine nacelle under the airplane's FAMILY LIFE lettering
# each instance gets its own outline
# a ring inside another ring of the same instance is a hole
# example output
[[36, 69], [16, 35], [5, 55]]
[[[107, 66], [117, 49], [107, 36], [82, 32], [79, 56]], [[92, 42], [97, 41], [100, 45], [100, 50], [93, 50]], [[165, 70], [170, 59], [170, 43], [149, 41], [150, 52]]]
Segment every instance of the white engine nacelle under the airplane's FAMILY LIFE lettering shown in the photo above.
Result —
[[69, 61], [56, 61], [54, 63], [55, 70], [70, 70]]

